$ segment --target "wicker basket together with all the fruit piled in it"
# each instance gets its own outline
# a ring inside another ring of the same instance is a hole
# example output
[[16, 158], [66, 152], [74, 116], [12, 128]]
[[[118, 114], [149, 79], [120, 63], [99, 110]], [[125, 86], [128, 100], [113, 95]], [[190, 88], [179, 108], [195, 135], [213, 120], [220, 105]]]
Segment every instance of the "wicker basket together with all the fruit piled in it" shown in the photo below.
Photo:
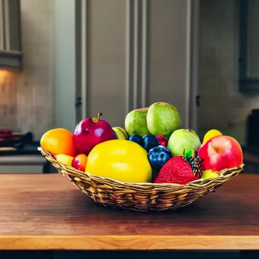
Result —
[[42, 135], [40, 152], [95, 202], [135, 211], [175, 210], [215, 192], [243, 170], [242, 148], [231, 136], [208, 131], [203, 141], [182, 128], [177, 108], [154, 103], [133, 110], [124, 126], [81, 120], [74, 133]]

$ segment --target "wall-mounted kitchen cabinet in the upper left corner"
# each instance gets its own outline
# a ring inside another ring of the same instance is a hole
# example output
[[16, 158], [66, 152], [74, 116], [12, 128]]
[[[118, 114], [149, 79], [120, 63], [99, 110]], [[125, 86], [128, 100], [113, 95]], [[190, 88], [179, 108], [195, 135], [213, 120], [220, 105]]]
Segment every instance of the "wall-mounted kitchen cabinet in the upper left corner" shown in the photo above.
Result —
[[0, 0], [0, 68], [22, 69], [20, 0]]

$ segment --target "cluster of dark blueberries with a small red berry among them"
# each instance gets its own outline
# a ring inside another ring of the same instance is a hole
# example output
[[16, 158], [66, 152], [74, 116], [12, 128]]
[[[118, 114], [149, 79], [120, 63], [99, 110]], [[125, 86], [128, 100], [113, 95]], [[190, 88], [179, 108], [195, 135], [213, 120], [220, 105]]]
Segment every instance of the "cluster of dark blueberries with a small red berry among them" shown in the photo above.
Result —
[[160, 170], [161, 167], [172, 157], [167, 146], [167, 138], [162, 135], [132, 135], [130, 141], [138, 143], [148, 152], [148, 160], [151, 167]]

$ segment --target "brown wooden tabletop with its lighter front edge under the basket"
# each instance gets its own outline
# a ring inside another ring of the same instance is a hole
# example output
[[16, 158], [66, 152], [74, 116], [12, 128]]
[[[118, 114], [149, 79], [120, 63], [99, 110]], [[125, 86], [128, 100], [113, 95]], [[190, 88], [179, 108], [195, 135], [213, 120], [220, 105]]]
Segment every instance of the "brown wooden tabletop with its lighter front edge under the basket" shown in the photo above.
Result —
[[95, 204], [59, 174], [0, 175], [0, 249], [258, 249], [259, 175], [176, 211]]

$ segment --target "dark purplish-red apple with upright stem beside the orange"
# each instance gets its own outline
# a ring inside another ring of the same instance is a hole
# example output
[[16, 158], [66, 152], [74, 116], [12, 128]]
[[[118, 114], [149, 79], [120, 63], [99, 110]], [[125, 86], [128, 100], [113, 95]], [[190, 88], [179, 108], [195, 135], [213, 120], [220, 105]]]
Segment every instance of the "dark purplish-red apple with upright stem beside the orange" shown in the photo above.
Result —
[[101, 115], [98, 113], [97, 119], [87, 118], [76, 125], [74, 142], [77, 154], [88, 155], [97, 144], [115, 139], [112, 127], [107, 121], [100, 120]]

